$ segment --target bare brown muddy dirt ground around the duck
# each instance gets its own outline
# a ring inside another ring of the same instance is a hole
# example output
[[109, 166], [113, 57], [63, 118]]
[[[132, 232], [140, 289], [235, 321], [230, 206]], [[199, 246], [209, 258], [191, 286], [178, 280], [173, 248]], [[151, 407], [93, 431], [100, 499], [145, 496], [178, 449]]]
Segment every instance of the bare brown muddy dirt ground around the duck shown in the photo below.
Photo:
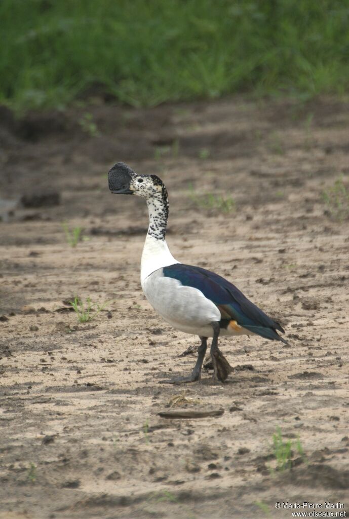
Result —
[[[349, 174], [348, 126], [333, 99], [1, 108], [1, 519], [282, 519], [276, 502], [303, 501], [349, 514], [349, 226], [322, 200]], [[165, 182], [173, 255], [227, 277], [290, 346], [221, 339], [225, 384], [161, 384], [192, 370], [180, 355], [199, 340], [142, 294], [147, 210], [109, 193], [119, 160]], [[63, 222], [83, 227], [75, 248]], [[75, 295], [105, 307], [78, 323]], [[183, 408], [224, 414], [158, 415]]]

